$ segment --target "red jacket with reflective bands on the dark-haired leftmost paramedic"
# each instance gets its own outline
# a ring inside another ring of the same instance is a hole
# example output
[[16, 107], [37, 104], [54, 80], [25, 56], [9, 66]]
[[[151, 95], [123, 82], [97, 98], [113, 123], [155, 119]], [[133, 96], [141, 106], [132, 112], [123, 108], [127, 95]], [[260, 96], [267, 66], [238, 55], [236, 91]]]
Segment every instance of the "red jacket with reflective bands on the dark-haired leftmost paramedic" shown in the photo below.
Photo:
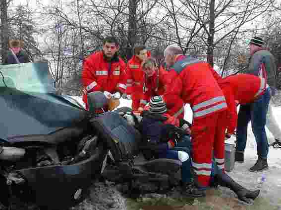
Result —
[[[116, 55], [111, 62], [105, 60], [102, 51], [90, 55], [84, 62], [82, 83], [88, 92], [126, 90], [126, 64]], [[87, 104], [87, 95], [83, 95], [83, 101]]]

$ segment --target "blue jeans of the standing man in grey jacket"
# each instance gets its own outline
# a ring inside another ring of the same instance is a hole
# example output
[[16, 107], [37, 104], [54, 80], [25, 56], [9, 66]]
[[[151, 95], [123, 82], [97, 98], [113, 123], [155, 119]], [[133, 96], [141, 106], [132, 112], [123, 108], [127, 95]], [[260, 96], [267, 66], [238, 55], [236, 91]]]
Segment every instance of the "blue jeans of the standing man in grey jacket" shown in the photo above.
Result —
[[258, 157], [267, 159], [268, 140], [265, 131], [266, 115], [271, 98], [270, 88], [255, 102], [240, 105], [237, 120], [236, 152], [244, 152], [247, 142], [248, 123], [251, 120], [252, 130], [257, 142]]

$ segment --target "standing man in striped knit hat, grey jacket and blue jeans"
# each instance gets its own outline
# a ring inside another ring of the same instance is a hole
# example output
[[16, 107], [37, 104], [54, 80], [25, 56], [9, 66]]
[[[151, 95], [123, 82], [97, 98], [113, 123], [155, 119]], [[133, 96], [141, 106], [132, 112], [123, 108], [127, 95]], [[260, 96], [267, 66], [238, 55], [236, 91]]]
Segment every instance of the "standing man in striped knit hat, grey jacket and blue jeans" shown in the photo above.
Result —
[[[276, 65], [274, 56], [265, 48], [265, 42], [260, 37], [253, 37], [249, 43], [250, 58], [246, 74], [255, 75], [266, 83], [265, 94], [253, 103], [240, 105], [237, 120], [237, 144], [235, 161], [244, 162], [244, 150], [247, 141], [247, 128], [251, 120], [253, 133], [257, 142], [258, 160], [250, 171], [261, 171], [268, 168], [268, 140], [265, 131], [266, 115], [271, 95], [276, 89]], [[260, 113], [259, 115], [253, 113]]]

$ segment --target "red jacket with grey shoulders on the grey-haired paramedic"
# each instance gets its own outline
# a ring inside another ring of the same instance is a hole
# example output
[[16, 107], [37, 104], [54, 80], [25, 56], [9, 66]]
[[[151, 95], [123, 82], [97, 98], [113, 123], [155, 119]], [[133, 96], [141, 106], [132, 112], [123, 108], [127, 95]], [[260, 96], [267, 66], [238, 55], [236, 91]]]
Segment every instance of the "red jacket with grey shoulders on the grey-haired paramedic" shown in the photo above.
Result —
[[180, 55], [169, 70], [164, 97], [177, 95], [189, 103], [193, 119], [204, 118], [227, 109], [225, 96], [208, 63], [191, 56]]

